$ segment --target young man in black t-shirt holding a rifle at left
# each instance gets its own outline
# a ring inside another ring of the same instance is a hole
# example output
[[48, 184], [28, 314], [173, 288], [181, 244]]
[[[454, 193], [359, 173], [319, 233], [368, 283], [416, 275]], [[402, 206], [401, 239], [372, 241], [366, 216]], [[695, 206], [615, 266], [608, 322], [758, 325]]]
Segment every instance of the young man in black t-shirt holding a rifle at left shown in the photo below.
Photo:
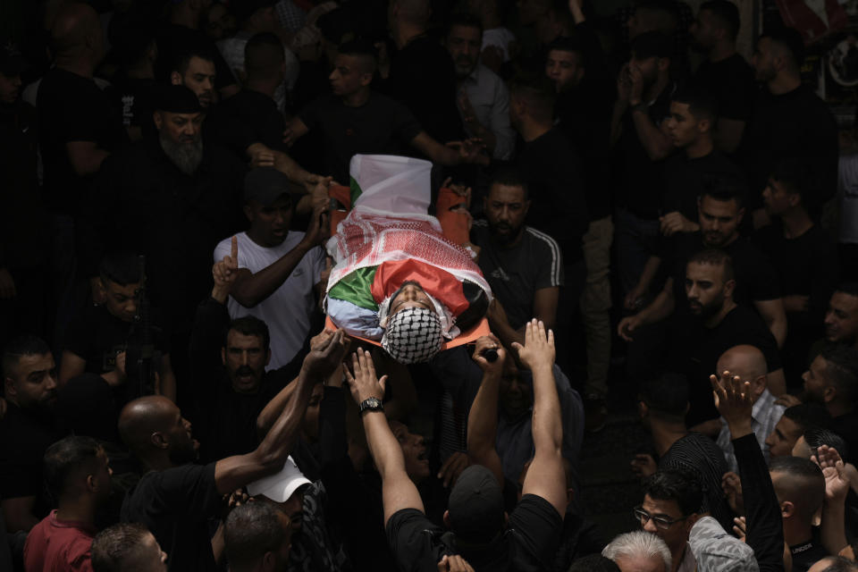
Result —
[[[105, 257], [99, 267], [96, 293], [103, 302], [82, 309], [71, 322], [60, 363], [60, 383], [84, 372], [99, 374], [114, 388], [119, 407], [149, 391], [176, 400], [169, 334], [160, 315], [152, 315], [153, 308], [148, 308], [149, 332], [141, 325], [139, 304], [147, 303], [141, 300], [141, 279], [138, 257], [128, 253]], [[154, 376], [140, 379], [137, 369], [143, 344], [149, 342], [154, 346], [152, 373], [157, 374], [157, 384]]]

